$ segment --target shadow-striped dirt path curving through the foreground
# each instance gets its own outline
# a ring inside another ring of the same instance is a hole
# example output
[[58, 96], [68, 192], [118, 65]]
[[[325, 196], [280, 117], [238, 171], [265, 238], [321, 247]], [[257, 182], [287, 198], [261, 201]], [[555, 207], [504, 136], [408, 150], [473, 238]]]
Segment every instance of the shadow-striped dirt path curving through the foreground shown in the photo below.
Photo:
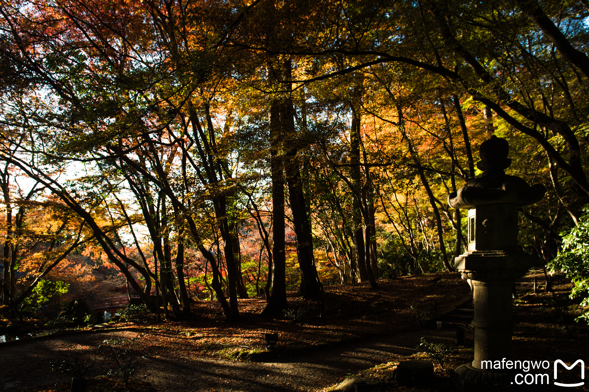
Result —
[[[50, 370], [49, 361], [65, 353], [83, 352], [96, 356], [97, 345], [107, 338], [135, 337], [153, 342], [139, 378], [166, 392], [224, 391], [270, 392], [314, 391], [337, 383], [346, 373], [415, 353], [413, 347], [426, 336], [432, 343], [452, 343], [454, 330], [418, 330], [391, 337], [375, 338], [340, 348], [313, 352], [296, 358], [278, 358], [274, 363], [219, 360], [201, 356], [188, 339], [158, 331], [111, 331], [66, 335], [39, 341], [0, 346], [0, 391], [42, 386], [64, 381]], [[88, 377], [105, 374], [98, 368]]]

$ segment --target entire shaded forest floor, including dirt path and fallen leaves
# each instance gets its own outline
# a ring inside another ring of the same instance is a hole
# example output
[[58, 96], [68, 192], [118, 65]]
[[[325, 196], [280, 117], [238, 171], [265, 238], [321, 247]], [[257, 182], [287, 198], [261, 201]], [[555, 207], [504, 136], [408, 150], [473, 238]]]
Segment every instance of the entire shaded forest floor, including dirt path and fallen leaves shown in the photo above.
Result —
[[[442, 281], [436, 284], [438, 277]], [[135, 391], [325, 391], [350, 376], [368, 377], [380, 383], [380, 391], [411, 390], [392, 381], [396, 364], [425, 356], [415, 350], [421, 337], [449, 347], [455, 337], [452, 329], [420, 328], [416, 316], [449, 310], [469, 294], [469, 287], [458, 274], [444, 273], [379, 284], [380, 290], [370, 290], [368, 284], [326, 287], [324, 317], [319, 317], [317, 301], [291, 293], [288, 317], [262, 317], [265, 301], [256, 297], [240, 300], [241, 321], [227, 324], [216, 302], [202, 301], [190, 320], [158, 324], [147, 317], [116, 324], [116, 329], [0, 344], [0, 390], [69, 391], [65, 381], [71, 376], [52, 372], [49, 364], [68, 353], [96, 362], [87, 375], [93, 378], [91, 390], [122, 388], [104, 376], [110, 365], [98, 347], [118, 337], [135, 338], [133, 348], [144, 357], [133, 381]], [[555, 277], [553, 287], [555, 295], [529, 293], [514, 301], [514, 357], [572, 363], [589, 351], [587, 328], [571, 320], [578, 310], [567, 300], [570, 283]], [[279, 334], [274, 350], [266, 348], [266, 331]], [[472, 335], [467, 331], [464, 346], [455, 348], [444, 368], [436, 364], [436, 381], [426, 390], [451, 390], [449, 371], [471, 360]]]

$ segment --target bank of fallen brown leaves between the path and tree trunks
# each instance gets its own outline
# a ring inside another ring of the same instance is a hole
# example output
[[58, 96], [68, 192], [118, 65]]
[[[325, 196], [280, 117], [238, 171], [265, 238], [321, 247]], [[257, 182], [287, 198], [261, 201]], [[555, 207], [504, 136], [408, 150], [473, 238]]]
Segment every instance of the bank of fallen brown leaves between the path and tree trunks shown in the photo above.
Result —
[[[433, 283], [432, 279], [438, 277], [442, 282]], [[224, 321], [217, 301], [201, 301], [194, 304], [193, 316], [187, 320], [158, 324], [151, 315], [143, 324], [118, 323], [117, 327], [150, 324], [139, 344], [153, 356], [158, 355], [158, 350], [176, 350], [178, 355], [186, 357], [244, 360], [269, 351], [264, 341], [264, 333], [269, 331], [279, 334], [277, 350], [295, 353], [323, 344], [412, 330], [418, 324], [411, 305], [432, 312], [437, 307], [441, 313], [469, 293], [460, 276], [450, 273], [414, 275], [378, 283], [379, 290], [373, 290], [368, 283], [325, 287], [327, 315], [324, 317], [320, 317], [319, 301], [303, 300], [296, 292], [290, 292], [291, 311], [286, 314], [295, 314], [294, 320], [260, 315], [266, 301], [263, 297], [253, 297], [239, 300], [241, 320], [233, 324]]]

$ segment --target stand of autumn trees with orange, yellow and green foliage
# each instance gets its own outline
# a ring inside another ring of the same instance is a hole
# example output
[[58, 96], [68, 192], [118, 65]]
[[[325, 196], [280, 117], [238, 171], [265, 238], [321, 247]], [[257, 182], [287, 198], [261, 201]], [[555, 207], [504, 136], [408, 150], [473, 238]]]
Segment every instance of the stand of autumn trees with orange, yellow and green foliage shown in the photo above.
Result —
[[82, 247], [151, 311], [154, 294], [174, 317], [214, 297], [229, 321], [238, 297], [263, 292], [280, 314], [295, 285], [320, 300], [336, 277], [378, 288], [450, 271], [465, 217], [446, 195], [479, 174], [491, 134], [509, 140], [512, 172], [548, 188], [521, 208], [525, 250], [551, 260], [589, 198], [582, 5], [21, 0], [0, 12], [2, 304], [14, 309], [35, 290], [17, 272], [42, 281], [78, 265], [98, 285]]

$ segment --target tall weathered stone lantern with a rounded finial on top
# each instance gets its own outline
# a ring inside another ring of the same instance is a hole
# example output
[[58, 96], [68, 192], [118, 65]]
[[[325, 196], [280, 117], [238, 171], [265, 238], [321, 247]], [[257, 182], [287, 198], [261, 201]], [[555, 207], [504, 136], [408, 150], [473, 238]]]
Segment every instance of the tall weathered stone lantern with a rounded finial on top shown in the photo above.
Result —
[[474, 303], [474, 361], [454, 370], [459, 390], [486, 390], [509, 385], [509, 370], [488, 368], [482, 361], [511, 360], [511, 300], [515, 278], [527, 273], [530, 255], [518, 251], [518, 207], [544, 197], [545, 188], [530, 187], [507, 175], [509, 144], [493, 135], [481, 144], [480, 177], [448, 196], [454, 208], [468, 208], [468, 251], [455, 258], [462, 278], [471, 280]]

